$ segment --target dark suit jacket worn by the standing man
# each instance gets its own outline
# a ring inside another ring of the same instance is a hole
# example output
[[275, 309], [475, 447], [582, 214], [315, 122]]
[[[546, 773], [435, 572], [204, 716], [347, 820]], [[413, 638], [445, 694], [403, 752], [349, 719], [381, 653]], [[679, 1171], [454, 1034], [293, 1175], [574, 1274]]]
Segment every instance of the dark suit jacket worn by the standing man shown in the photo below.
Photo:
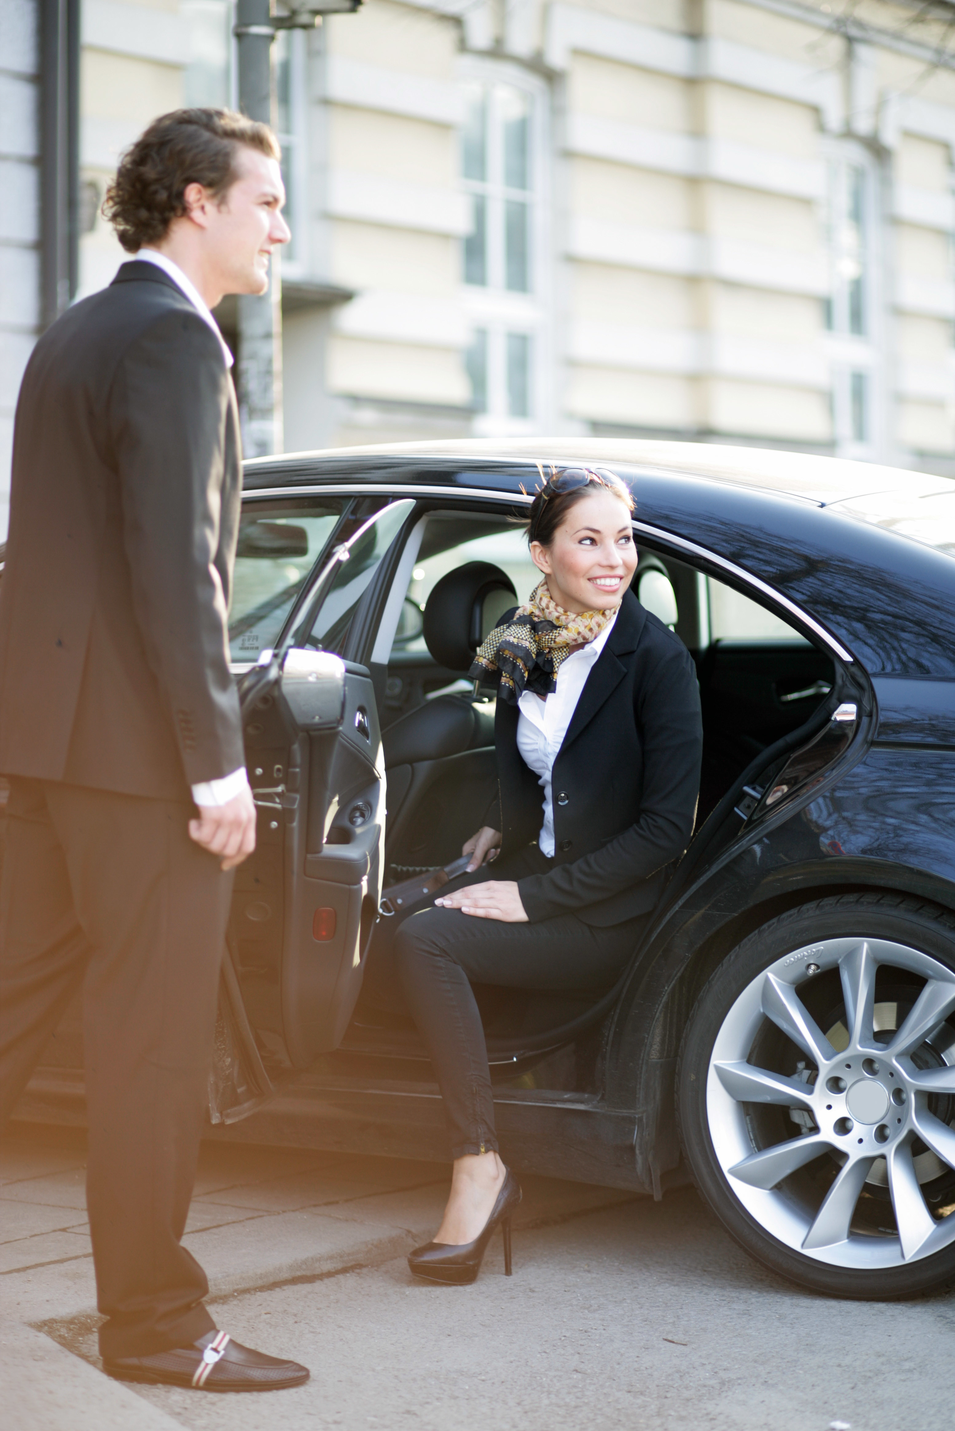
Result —
[[226, 611], [242, 488], [216, 335], [123, 263], [27, 363], [0, 584], [0, 770], [189, 798], [243, 764]]

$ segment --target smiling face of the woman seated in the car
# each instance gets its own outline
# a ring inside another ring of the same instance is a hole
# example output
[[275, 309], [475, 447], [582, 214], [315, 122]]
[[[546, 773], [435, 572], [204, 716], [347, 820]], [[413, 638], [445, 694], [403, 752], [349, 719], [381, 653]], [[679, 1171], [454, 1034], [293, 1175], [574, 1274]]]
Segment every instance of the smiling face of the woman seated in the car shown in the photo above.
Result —
[[531, 542], [531, 561], [566, 611], [619, 607], [637, 570], [630, 511], [606, 488], [593, 488], [567, 511], [550, 547]]

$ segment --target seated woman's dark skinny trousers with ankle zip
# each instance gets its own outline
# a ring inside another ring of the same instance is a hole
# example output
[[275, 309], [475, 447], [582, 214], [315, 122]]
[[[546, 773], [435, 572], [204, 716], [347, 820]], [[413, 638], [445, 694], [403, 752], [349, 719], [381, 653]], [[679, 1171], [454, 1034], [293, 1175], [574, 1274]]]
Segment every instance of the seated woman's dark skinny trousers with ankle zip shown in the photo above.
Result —
[[[551, 864], [530, 846], [448, 889], [515, 880]], [[404, 920], [394, 936], [394, 960], [441, 1088], [452, 1158], [498, 1151], [487, 1045], [471, 983], [588, 990], [597, 997], [621, 973], [646, 920], [641, 914], [596, 929], [576, 914], [560, 914], [535, 924], [505, 924], [434, 907]]]

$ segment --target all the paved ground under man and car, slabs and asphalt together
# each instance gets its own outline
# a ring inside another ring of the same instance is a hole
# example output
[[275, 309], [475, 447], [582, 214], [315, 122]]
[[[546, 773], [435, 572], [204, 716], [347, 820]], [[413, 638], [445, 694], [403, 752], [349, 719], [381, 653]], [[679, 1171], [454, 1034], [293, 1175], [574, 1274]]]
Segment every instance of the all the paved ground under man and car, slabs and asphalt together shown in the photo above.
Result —
[[952, 1431], [955, 1296], [840, 1302], [755, 1264], [692, 1188], [527, 1178], [514, 1276], [415, 1282], [448, 1168], [210, 1143], [188, 1244], [239, 1341], [305, 1362], [268, 1397], [99, 1369], [83, 1138], [0, 1159], [3, 1431]]

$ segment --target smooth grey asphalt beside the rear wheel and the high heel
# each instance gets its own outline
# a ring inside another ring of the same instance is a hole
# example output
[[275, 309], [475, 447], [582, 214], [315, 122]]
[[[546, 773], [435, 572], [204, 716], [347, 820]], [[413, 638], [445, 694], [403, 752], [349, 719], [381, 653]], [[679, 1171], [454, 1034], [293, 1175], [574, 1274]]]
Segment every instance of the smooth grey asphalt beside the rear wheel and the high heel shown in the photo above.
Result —
[[[246, 1397], [137, 1390], [195, 1431], [955, 1428], [955, 1296], [803, 1294], [690, 1189], [515, 1229], [510, 1279], [498, 1241], [470, 1288], [412, 1282], [398, 1258], [213, 1311], [312, 1379]], [[92, 1358], [89, 1339], [73, 1349]]]

